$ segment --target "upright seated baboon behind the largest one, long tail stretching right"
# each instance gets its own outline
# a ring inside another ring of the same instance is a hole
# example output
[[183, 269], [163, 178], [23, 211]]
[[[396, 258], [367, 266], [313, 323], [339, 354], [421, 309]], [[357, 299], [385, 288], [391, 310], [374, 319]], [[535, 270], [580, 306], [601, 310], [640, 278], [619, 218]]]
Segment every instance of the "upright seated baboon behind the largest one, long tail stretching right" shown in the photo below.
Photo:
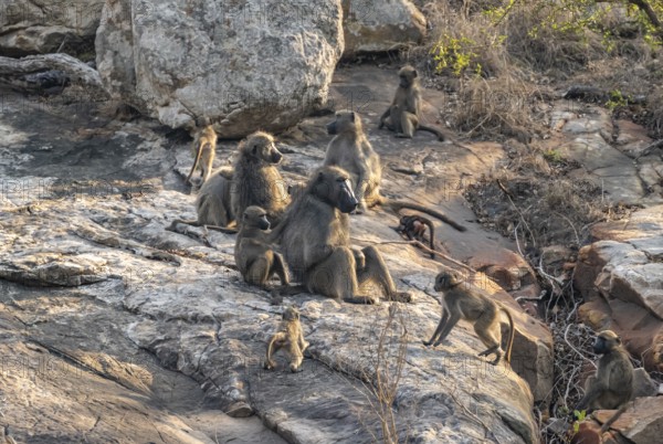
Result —
[[409, 209], [438, 218], [459, 231], [466, 230], [439, 211], [380, 195], [382, 180], [380, 157], [366, 138], [361, 117], [357, 113], [350, 110], [336, 113], [335, 120], [327, 125], [327, 133], [336, 137], [327, 147], [324, 165], [340, 167], [350, 175], [355, 193], [360, 200], [360, 211], [378, 204], [388, 205], [397, 213], [402, 209]]

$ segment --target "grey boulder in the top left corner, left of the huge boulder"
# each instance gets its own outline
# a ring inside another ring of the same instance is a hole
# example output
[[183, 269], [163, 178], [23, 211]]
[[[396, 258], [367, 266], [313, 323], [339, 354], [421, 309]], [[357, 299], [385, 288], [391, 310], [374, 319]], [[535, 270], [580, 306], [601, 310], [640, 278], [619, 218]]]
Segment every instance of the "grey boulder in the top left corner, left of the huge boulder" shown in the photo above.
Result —
[[7, 0], [0, 10], [0, 54], [21, 56], [57, 52], [92, 42], [104, 0]]

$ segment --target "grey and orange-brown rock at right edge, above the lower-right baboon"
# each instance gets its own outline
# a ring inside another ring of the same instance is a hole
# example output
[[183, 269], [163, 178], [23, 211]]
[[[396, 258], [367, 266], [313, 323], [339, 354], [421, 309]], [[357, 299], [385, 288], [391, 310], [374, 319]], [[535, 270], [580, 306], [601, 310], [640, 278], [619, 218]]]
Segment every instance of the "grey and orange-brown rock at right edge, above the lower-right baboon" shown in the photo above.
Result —
[[663, 207], [639, 210], [628, 222], [593, 228], [603, 241], [580, 250], [576, 285], [582, 318], [594, 329], [624, 337], [631, 353], [650, 370], [663, 370]]

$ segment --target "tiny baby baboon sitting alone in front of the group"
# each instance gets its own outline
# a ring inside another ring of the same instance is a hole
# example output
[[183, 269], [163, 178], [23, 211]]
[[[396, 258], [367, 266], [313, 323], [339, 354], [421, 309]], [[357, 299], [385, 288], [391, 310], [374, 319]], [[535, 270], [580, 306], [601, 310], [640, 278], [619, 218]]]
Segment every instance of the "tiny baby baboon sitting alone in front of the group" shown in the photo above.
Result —
[[304, 350], [308, 342], [304, 340], [302, 324], [299, 323], [299, 310], [295, 307], [287, 307], [283, 311], [283, 320], [278, 330], [270, 339], [267, 345], [267, 356], [265, 359], [265, 369], [276, 368], [276, 362], [272, 359], [274, 353], [285, 348], [291, 359], [291, 371], [302, 371], [302, 361], [304, 360]]

